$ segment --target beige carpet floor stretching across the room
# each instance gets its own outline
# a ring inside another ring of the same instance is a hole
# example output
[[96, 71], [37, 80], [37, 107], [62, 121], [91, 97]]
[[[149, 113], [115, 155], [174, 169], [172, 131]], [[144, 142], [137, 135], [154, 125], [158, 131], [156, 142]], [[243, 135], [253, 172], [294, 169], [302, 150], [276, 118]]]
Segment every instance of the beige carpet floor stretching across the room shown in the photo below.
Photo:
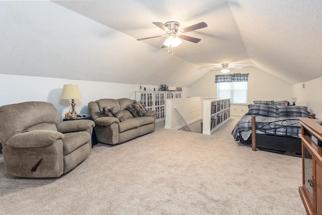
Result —
[[301, 158], [239, 146], [238, 119], [213, 135], [157, 123], [54, 179], [11, 177], [0, 163], [0, 214], [306, 214]]

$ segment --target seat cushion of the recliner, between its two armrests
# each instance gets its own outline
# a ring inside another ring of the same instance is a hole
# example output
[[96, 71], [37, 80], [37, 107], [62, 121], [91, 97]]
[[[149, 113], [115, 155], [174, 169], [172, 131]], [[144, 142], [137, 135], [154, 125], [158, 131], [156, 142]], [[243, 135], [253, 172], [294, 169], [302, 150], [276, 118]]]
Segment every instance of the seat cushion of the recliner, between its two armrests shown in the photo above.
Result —
[[65, 133], [64, 135], [65, 137], [62, 139], [64, 155], [68, 155], [88, 141], [91, 141], [91, 135], [86, 131]]

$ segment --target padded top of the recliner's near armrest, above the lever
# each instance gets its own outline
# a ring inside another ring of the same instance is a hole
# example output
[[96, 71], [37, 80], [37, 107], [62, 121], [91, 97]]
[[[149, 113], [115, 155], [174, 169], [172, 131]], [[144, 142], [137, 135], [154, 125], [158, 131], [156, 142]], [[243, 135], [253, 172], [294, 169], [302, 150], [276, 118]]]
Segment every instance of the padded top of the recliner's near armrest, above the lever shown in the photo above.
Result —
[[63, 139], [64, 134], [52, 130], [33, 130], [19, 133], [7, 141], [7, 146], [17, 148], [36, 148], [53, 144], [57, 139]]

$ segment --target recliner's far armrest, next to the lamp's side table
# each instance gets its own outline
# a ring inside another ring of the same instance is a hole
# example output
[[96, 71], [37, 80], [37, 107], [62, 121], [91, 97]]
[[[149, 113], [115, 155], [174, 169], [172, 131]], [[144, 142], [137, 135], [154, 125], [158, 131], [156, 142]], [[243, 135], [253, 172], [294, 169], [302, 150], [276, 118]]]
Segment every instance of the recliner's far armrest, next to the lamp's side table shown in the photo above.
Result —
[[56, 125], [57, 130], [62, 133], [69, 133], [69, 132], [76, 132], [76, 131], [83, 131], [89, 128], [93, 128], [95, 123], [89, 119], [82, 119], [82, 120], [68, 120], [60, 122]]

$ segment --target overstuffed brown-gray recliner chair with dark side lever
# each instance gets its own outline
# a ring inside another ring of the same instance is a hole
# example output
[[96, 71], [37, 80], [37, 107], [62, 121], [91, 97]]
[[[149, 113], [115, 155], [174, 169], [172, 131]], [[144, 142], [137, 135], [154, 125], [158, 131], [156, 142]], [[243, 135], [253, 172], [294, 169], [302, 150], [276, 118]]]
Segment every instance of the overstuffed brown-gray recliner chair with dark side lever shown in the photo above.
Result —
[[27, 178], [59, 177], [91, 152], [92, 120], [60, 122], [48, 102], [0, 107], [0, 141], [8, 174]]

